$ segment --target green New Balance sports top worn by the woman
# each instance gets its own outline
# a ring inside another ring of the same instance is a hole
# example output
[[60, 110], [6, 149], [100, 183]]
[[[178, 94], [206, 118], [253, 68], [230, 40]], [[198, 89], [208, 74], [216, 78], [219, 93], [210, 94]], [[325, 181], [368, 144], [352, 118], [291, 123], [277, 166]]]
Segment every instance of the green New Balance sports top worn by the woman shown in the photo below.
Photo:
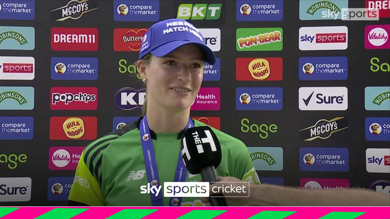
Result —
[[[140, 138], [140, 122], [121, 127], [89, 143], [83, 150], [69, 194], [69, 205], [151, 206], [150, 194], [141, 194], [148, 184]], [[206, 124], [194, 120], [194, 126]], [[222, 161], [218, 176], [234, 176], [260, 184], [246, 145], [239, 139], [211, 127], [221, 145]], [[155, 133], [150, 130], [160, 185], [173, 182], [180, 139], [184, 132]], [[187, 182], [197, 182], [201, 175], [187, 172]], [[163, 188], [161, 188], [160, 192]], [[163, 196], [165, 206], [170, 198]], [[183, 197], [181, 206], [203, 206], [198, 197]]]

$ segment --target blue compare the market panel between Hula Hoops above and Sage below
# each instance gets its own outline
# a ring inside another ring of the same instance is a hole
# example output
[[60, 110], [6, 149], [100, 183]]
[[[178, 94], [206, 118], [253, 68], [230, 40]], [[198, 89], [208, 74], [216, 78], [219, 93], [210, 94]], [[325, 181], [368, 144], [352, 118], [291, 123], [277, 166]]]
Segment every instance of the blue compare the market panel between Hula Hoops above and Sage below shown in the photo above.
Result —
[[241, 87], [236, 89], [238, 110], [275, 110], [283, 108], [283, 89], [280, 87]]

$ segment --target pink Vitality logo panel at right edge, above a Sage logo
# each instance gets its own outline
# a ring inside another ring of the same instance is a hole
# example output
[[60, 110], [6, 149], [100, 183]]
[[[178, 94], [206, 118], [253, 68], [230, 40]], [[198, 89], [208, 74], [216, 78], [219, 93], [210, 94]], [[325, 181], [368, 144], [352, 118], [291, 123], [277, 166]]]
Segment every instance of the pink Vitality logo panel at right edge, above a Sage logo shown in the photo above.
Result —
[[390, 24], [368, 25], [364, 32], [366, 49], [390, 49]]

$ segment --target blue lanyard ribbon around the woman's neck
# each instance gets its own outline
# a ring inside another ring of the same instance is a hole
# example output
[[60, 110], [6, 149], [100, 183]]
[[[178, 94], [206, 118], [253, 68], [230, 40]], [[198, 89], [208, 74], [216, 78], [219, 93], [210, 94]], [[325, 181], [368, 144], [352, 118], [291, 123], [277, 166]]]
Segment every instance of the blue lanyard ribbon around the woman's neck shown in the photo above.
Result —
[[[185, 130], [191, 128], [192, 126], [193, 126], [192, 120], [191, 118], [189, 118]], [[148, 177], [148, 182], [150, 183], [151, 186], [158, 187], [160, 186], [159, 185], [160, 180], [158, 177], [157, 163], [156, 163], [156, 158], [154, 156], [153, 143], [152, 143], [152, 138], [150, 136], [150, 130], [149, 130], [148, 121], [146, 119], [146, 115], [141, 120], [140, 135], [141, 135], [142, 150], [143, 150], [144, 160], [145, 160], [145, 167], [147, 169], [146, 175]], [[184, 176], [184, 180], [182, 179], [183, 176]], [[185, 181], [186, 176], [187, 176], [187, 168], [183, 163], [181, 153], [179, 153], [179, 158], [177, 159], [177, 165], [176, 165], [175, 182]], [[164, 206], [162, 193], [163, 193], [162, 190], [158, 193], [157, 196], [155, 196], [155, 194], [150, 193], [152, 206]], [[181, 199], [182, 197], [171, 197], [169, 206], [180, 206]], [[175, 205], [173, 204], [173, 201], [175, 202]]]

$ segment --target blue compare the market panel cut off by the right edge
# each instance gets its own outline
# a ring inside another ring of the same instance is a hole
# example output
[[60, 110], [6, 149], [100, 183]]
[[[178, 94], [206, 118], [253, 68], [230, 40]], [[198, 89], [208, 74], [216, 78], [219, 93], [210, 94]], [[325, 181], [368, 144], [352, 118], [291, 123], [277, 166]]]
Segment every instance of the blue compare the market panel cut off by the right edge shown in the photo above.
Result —
[[390, 141], [390, 117], [368, 117], [365, 124], [366, 140]]

